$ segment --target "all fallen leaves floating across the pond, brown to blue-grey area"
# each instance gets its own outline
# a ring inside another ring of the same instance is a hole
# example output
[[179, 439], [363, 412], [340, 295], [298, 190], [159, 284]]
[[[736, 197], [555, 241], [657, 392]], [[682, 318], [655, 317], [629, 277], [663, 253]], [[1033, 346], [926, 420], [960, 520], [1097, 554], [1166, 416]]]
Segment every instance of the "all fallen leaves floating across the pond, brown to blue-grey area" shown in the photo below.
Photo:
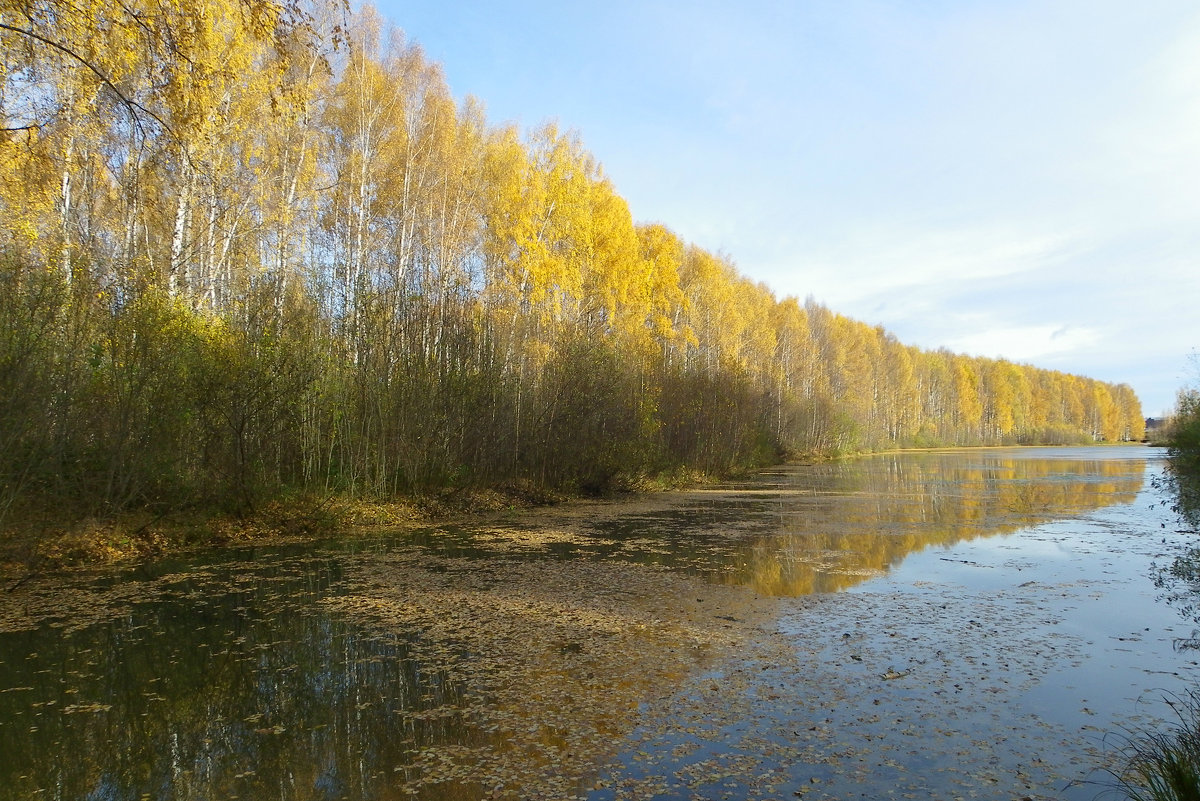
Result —
[[[419, 697], [382, 710], [380, 699], [366, 698], [352, 712], [402, 718], [401, 730], [412, 733], [388, 751], [398, 758], [372, 765], [371, 797], [832, 800], [880, 797], [886, 788], [894, 797], [1044, 799], [1103, 764], [1100, 729], [1051, 723], [1022, 704], [1051, 671], [1079, 666], [1088, 643], [1058, 621], [1096, 602], [1099, 584], [1021, 582], [980, 592], [928, 583], [910, 592], [767, 600], [714, 584], [721, 578], [712, 573], [706, 580], [630, 564], [631, 554], [670, 553], [653, 537], [624, 537], [620, 559], [595, 553], [617, 543], [590, 536], [587, 524], [580, 516], [574, 526], [482, 529], [475, 543], [486, 553], [469, 558], [406, 548], [338, 555], [338, 578], [312, 595], [322, 613], [366, 632], [350, 667], [404, 660], [420, 674]], [[563, 547], [604, 559], [529, 559]], [[714, 538], [683, 566], [728, 570], [733, 553]], [[822, 572], [878, 574], [840, 564], [835, 550], [781, 554]], [[223, 566], [220, 577], [192, 570], [126, 584], [30, 582], [0, 604], [0, 631], [124, 625], [139, 604], [174, 597], [202, 607], [216, 592], [240, 600], [239, 610], [314, 615], [311, 603], [284, 595], [300, 573], [266, 576], [250, 561]], [[208, 650], [278, 681], [296, 666], [269, 657], [289, 648], [242, 634]], [[0, 687], [8, 698], [31, 689]], [[86, 719], [122, 711], [110, 698], [56, 709], [53, 700], [30, 709]], [[208, 724], [221, 736], [241, 725], [284, 743], [326, 729], [247, 712]]]

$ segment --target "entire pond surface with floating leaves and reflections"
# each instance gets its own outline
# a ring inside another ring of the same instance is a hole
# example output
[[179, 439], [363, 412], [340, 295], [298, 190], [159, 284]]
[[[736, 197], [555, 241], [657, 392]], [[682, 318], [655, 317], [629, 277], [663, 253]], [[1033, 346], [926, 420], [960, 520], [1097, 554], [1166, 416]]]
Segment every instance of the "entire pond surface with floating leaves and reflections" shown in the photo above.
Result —
[[796, 465], [0, 598], [0, 799], [1092, 799], [1196, 680], [1157, 451]]

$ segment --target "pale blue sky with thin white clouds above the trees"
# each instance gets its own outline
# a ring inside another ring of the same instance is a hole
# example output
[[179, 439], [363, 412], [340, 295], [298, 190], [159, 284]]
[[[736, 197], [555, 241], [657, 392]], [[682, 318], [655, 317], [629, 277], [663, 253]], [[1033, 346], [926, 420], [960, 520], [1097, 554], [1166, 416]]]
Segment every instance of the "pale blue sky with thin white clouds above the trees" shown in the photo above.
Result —
[[1200, 385], [1195, 0], [382, 0], [637, 222], [907, 344]]

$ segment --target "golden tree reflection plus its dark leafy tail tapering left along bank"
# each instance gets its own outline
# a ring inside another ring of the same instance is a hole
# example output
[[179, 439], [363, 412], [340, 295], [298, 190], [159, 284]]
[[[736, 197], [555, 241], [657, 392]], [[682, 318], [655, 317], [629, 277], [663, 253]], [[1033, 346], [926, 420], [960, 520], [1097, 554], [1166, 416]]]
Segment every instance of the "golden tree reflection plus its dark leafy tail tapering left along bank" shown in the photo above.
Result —
[[446, 531], [428, 544], [458, 555], [624, 559], [770, 596], [833, 592], [914, 550], [1130, 502], [1146, 456], [1142, 448], [880, 454], [778, 468], [754, 482], [685, 493], [667, 508], [582, 524], [545, 519], [523, 546], [524, 528]]

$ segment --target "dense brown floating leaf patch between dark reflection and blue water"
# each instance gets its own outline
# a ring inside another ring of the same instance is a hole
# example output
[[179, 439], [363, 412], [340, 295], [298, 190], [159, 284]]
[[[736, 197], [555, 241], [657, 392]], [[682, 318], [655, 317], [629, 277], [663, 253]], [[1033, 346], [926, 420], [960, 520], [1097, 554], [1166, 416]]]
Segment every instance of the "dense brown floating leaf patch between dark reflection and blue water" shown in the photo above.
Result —
[[661, 568], [582, 560], [403, 555], [358, 565], [349, 585], [324, 606], [420, 632], [413, 657], [467, 688], [462, 706], [437, 713], [487, 736], [484, 747], [434, 746], [396, 766], [404, 789], [427, 797], [446, 784], [496, 799], [584, 795], [644, 705], [743, 648], [748, 621], [766, 624], [772, 608]]

